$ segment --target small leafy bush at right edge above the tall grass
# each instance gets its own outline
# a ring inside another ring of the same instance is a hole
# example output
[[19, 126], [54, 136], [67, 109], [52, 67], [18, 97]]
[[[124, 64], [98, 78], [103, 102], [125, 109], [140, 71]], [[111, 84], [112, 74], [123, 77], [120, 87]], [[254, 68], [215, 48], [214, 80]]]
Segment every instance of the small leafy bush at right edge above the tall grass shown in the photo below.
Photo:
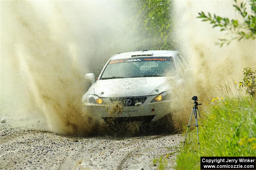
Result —
[[256, 92], [256, 71], [252, 71], [250, 67], [244, 68], [243, 70], [244, 78], [240, 82], [240, 86], [245, 88], [246, 94], [251, 97], [255, 97]]

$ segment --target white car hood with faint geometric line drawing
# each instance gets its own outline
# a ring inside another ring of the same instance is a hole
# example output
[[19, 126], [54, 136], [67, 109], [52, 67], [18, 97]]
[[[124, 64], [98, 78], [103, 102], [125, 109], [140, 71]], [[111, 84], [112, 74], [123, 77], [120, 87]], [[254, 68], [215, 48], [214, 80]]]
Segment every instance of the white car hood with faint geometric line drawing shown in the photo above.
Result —
[[171, 77], [139, 77], [98, 80], [93, 88], [99, 97], [135, 97], [160, 94], [172, 84]]

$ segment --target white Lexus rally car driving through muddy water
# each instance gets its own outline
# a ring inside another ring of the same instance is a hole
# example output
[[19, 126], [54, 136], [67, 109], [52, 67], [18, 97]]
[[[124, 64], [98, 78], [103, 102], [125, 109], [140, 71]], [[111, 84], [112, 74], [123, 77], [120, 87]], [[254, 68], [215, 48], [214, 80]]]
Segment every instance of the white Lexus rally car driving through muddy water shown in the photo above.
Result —
[[172, 112], [170, 104], [177, 96], [173, 88], [182, 85], [189, 73], [178, 51], [118, 53], [108, 60], [96, 82], [93, 73], [85, 75], [92, 86], [82, 97], [83, 114], [100, 123], [111, 118], [158, 121]]

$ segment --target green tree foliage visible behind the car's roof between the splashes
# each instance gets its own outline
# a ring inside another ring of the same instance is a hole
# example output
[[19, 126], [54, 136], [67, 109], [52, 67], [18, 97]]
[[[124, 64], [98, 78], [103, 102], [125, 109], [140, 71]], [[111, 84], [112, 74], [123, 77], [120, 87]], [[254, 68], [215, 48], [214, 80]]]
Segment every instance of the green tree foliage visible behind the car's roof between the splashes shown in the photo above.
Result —
[[162, 50], [172, 49], [175, 45], [172, 43], [170, 34], [173, 28], [173, 19], [170, 13], [172, 1], [170, 0], [148, 0], [135, 1], [136, 7], [139, 7], [139, 13], [136, 22], [141, 28], [143, 34], [143, 44], [148, 44], [147, 48]]

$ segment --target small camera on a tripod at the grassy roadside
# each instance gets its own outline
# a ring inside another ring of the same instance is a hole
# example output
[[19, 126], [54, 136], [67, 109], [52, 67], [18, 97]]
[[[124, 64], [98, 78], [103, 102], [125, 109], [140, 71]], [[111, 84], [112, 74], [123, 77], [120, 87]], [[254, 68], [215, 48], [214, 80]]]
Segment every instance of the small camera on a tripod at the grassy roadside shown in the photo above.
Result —
[[194, 96], [192, 97], [192, 100], [194, 100], [194, 107], [192, 109], [192, 112], [191, 112], [191, 115], [190, 115], [190, 119], [189, 119], [189, 124], [188, 124], [188, 128], [187, 128], [187, 131], [186, 131], [186, 135], [185, 135], [185, 139], [183, 141], [183, 147], [182, 147], [182, 150], [184, 148], [184, 145], [185, 145], [185, 141], [186, 141], [186, 138], [187, 138], [187, 134], [188, 134], [188, 130], [189, 130], [189, 125], [190, 125], [190, 122], [191, 122], [191, 118], [192, 118], [192, 115], [194, 113], [194, 116], [195, 116], [195, 127], [196, 127], [196, 132], [197, 132], [197, 142], [198, 142], [198, 145], [199, 145], [199, 136], [198, 136], [198, 120], [197, 120], [197, 113], [199, 115], [199, 118], [200, 118], [200, 112], [198, 111], [198, 105], [201, 105], [202, 103], [198, 103], [197, 101], [197, 96]]

